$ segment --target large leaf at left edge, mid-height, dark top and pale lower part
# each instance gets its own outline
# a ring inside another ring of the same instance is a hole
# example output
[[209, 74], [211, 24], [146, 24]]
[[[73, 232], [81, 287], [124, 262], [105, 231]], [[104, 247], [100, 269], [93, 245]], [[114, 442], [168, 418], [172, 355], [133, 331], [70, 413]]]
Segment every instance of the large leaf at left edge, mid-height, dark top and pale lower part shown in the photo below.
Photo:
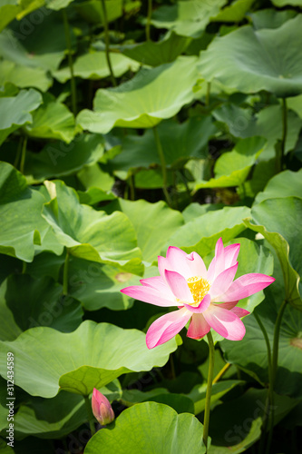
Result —
[[27, 188], [24, 175], [11, 164], [0, 163], [0, 168], [0, 252], [32, 262], [35, 245], [41, 245], [40, 251], [61, 255], [63, 246], [41, 215], [44, 196]]

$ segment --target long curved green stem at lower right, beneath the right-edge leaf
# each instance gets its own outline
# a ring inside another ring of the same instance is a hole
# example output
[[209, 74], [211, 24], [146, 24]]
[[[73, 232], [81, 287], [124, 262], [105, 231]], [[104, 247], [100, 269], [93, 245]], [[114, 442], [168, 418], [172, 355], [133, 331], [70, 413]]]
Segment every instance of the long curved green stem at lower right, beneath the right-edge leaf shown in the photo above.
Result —
[[[283, 317], [286, 307], [287, 307], [287, 300], [284, 300], [278, 311], [278, 315], [277, 315], [277, 319], [276, 319], [276, 323], [275, 323], [273, 357], [272, 357], [272, 368], [271, 368], [272, 369], [271, 370], [271, 382], [269, 383], [269, 387], [271, 388], [272, 393], [274, 392], [276, 374], [277, 374], [277, 370], [278, 370], [278, 349], [279, 349], [279, 335], [280, 335], [281, 321], [282, 321], [282, 317]], [[266, 450], [267, 454], [269, 454], [269, 452], [270, 452], [271, 440], [273, 438], [274, 412], [275, 412], [274, 405], [272, 405], [270, 408], [268, 444], [267, 444], [267, 450]]]

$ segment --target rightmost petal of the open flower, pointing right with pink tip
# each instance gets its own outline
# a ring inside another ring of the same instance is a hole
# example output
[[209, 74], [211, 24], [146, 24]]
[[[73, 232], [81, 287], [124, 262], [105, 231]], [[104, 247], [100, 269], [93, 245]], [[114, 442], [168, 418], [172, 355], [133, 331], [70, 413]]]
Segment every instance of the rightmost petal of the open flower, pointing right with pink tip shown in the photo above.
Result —
[[266, 274], [260, 274], [257, 272], [244, 274], [236, 281], [233, 281], [230, 284], [229, 289], [222, 295], [219, 295], [219, 299], [224, 302], [239, 301], [257, 293], [257, 291], [265, 289], [274, 281], [275, 278], [267, 276]]

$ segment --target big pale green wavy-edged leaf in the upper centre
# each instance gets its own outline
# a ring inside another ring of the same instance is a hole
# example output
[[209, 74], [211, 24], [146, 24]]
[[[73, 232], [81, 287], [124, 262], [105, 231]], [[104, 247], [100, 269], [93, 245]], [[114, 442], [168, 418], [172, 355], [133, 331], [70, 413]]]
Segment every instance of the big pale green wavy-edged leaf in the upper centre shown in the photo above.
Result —
[[113, 126], [151, 128], [192, 101], [196, 62], [195, 56], [180, 56], [173, 63], [144, 68], [116, 88], [98, 90], [94, 112], [84, 109], [77, 122], [92, 133], [109, 133]]

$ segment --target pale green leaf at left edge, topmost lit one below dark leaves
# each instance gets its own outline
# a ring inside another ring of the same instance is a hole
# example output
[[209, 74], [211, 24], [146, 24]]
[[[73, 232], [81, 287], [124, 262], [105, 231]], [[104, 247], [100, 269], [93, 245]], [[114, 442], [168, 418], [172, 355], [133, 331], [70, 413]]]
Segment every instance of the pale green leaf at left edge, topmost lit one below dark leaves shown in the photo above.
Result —
[[8, 82], [19, 88], [34, 87], [41, 92], [46, 92], [52, 84], [52, 79], [42, 68], [31, 68], [2, 60], [0, 62], [0, 85]]

